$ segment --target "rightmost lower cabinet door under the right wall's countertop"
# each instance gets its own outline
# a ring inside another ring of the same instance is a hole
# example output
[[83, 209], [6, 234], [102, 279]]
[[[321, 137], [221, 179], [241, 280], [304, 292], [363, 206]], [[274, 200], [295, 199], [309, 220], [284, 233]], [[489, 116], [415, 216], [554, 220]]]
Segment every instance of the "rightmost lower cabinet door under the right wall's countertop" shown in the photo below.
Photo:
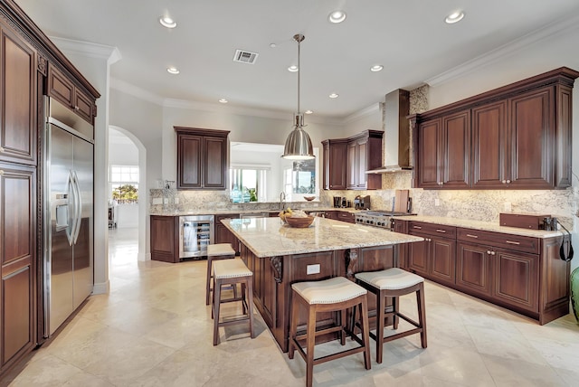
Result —
[[493, 297], [538, 312], [538, 262], [534, 254], [496, 250]]

